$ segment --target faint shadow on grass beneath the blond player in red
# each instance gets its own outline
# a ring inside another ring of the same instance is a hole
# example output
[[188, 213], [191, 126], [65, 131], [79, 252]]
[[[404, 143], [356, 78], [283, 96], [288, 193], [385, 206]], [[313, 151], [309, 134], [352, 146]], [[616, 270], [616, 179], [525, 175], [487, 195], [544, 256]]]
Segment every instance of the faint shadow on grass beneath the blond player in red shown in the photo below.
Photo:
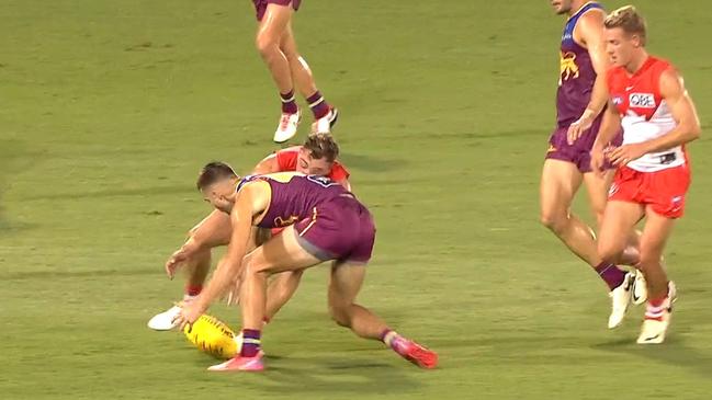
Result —
[[685, 345], [685, 339], [676, 334], [667, 338], [664, 344], [641, 345], [626, 338], [594, 344], [591, 347], [615, 354], [626, 353], [657, 363], [685, 367], [704, 377], [712, 376], [712, 355], [689, 348]]

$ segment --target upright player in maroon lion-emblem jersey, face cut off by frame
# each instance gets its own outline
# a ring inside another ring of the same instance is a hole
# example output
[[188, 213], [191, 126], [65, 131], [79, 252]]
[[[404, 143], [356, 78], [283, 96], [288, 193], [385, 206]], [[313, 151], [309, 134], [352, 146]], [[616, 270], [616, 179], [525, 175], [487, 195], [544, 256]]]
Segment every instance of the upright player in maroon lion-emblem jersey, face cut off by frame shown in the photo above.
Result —
[[[600, 221], [613, 175], [612, 170], [603, 176], [591, 173], [589, 155], [607, 100], [606, 13], [595, 1], [553, 0], [551, 3], [557, 14], [567, 15], [568, 20], [560, 53], [557, 127], [549, 140], [542, 169], [541, 221], [606, 282], [612, 300], [608, 327], [615, 328], [623, 321], [631, 301], [635, 272], [625, 273], [603, 262], [596, 251], [594, 230], [570, 212], [574, 195], [583, 182], [591, 210]], [[636, 254], [632, 254], [622, 262], [636, 261]]]

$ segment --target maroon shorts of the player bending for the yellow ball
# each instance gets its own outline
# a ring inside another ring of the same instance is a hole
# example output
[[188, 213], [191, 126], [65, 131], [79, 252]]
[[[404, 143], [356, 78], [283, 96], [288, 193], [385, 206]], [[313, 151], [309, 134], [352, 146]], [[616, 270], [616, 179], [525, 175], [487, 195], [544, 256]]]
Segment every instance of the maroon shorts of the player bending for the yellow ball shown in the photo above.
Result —
[[312, 216], [294, 225], [304, 250], [321, 261], [366, 264], [376, 229], [369, 209], [350, 196], [314, 207]]

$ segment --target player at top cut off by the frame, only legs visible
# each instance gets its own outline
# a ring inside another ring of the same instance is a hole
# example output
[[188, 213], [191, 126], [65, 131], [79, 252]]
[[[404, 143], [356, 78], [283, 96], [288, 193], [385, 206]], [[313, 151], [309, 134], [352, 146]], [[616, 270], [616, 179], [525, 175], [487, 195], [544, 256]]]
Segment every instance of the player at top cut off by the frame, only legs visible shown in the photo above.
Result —
[[282, 99], [282, 116], [274, 133], [281, 144], [296, 135], [302, 113], [296, 105], [294, 89], [306, 99], [314, 114], [313, 133], [328, 134], [339, 112], [327, 103], [316, 88], [312, 70], [296, 49], [292, 16], [302, 0], [252, 0], [259, 22], [256, 46]]

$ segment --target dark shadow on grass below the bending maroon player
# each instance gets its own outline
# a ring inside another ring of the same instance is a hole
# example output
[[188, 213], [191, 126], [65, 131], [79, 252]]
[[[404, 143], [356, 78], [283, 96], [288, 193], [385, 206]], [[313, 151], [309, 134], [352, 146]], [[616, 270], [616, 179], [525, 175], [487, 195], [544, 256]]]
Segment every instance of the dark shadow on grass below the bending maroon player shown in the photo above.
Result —
[[[391, 355], [391, 354], [386, 354]], [[241, 381], [256, 390], [272, 395], [383, 395], [387, 392], [417, 392], [419, 382], [405, 374], [412, 365], [395, 366], [375, 359], [332, 359], [305, 357], [289, 359], [269, 356], [269, 369], [259, 380]], [[417, 368], [416, 368], [417, 369]], [[418, 370], [416, 370], [418, 373]], [[428, 372], [421, 372], [428, 374]]]

